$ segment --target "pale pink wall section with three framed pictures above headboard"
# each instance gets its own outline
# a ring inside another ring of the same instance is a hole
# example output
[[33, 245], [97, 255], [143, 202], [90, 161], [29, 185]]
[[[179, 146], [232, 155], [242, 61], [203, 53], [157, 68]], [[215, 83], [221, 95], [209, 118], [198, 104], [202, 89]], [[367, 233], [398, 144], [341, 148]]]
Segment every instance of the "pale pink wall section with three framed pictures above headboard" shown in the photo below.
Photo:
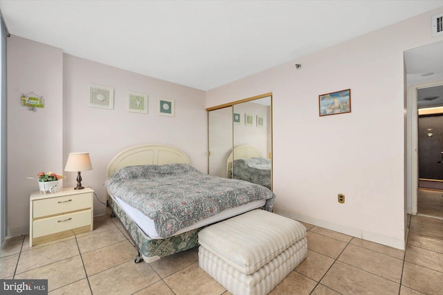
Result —
[[[138, 144], [168, 144], [188, 155], [193, 166], [206, 173], [207, 115], [205, 93], [194, 88], [128, 72], [95, 61], [64, 55], [63, 155], [89, 152], [93, 170], [82, 173], [82, 184], [106, 200], [103, 184], [114, 156]], [[87, 105], [88, 86], [114, 88], [114, 110]], [[148, 95], [148, 112], [127, 111], [127, 92]], [[157, 115], [157, 98], [175, 100], [175, 117]], [[64, 184], [75, 186], [76, 173], [66, 172]], [[94, 213], [105, 207], [96, 200]]]

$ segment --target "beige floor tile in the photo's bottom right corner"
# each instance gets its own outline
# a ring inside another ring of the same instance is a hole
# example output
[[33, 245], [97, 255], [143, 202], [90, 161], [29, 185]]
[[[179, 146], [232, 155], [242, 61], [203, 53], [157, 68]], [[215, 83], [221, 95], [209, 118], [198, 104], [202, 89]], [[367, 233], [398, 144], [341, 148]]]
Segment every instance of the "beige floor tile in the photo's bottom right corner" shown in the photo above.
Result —
[[442, 282], [443, 273], [412, 263], [404, 263], [401, 285], [424, 294], [443, 294]]

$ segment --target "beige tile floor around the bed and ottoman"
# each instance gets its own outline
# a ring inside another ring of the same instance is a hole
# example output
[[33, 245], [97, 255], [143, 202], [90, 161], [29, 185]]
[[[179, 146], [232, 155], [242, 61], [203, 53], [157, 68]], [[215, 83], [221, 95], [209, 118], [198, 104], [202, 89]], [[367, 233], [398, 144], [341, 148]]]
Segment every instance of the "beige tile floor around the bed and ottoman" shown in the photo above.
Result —
[[[308, 256], [271, 294], [443, 294], [443, 220], [412, 216], [406, 251], [305, 224]], [[117, 218], [94, 231], [37, 245], [0, 248], [0, 278], [47, 278], [50, 294], [229, 294], [198, 265], [197, 248], [154, 263], [137, 251]]]

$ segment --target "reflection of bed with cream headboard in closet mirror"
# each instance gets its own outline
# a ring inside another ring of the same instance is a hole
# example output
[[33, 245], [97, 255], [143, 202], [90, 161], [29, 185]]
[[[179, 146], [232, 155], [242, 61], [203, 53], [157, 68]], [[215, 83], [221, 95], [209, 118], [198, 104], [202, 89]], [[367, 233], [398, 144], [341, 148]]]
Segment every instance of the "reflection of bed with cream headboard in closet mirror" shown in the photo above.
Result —
[[271, 159], [263, 158], [253, 146], [235, 146], [226, 161], [226, 177], [271, 189]]

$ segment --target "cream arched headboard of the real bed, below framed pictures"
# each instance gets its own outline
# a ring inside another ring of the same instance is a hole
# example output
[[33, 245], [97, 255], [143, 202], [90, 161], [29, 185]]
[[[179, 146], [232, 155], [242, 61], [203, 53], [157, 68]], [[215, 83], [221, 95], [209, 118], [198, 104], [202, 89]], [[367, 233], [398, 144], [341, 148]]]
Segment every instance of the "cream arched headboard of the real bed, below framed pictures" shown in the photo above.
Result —
[[109, 162], [106, 177], [118, 169], [134, 165], [163, 165], [174, 163], [190, 164], [188, 156], [172, 146], [160, 144], [143, 144], [121, 151]]

